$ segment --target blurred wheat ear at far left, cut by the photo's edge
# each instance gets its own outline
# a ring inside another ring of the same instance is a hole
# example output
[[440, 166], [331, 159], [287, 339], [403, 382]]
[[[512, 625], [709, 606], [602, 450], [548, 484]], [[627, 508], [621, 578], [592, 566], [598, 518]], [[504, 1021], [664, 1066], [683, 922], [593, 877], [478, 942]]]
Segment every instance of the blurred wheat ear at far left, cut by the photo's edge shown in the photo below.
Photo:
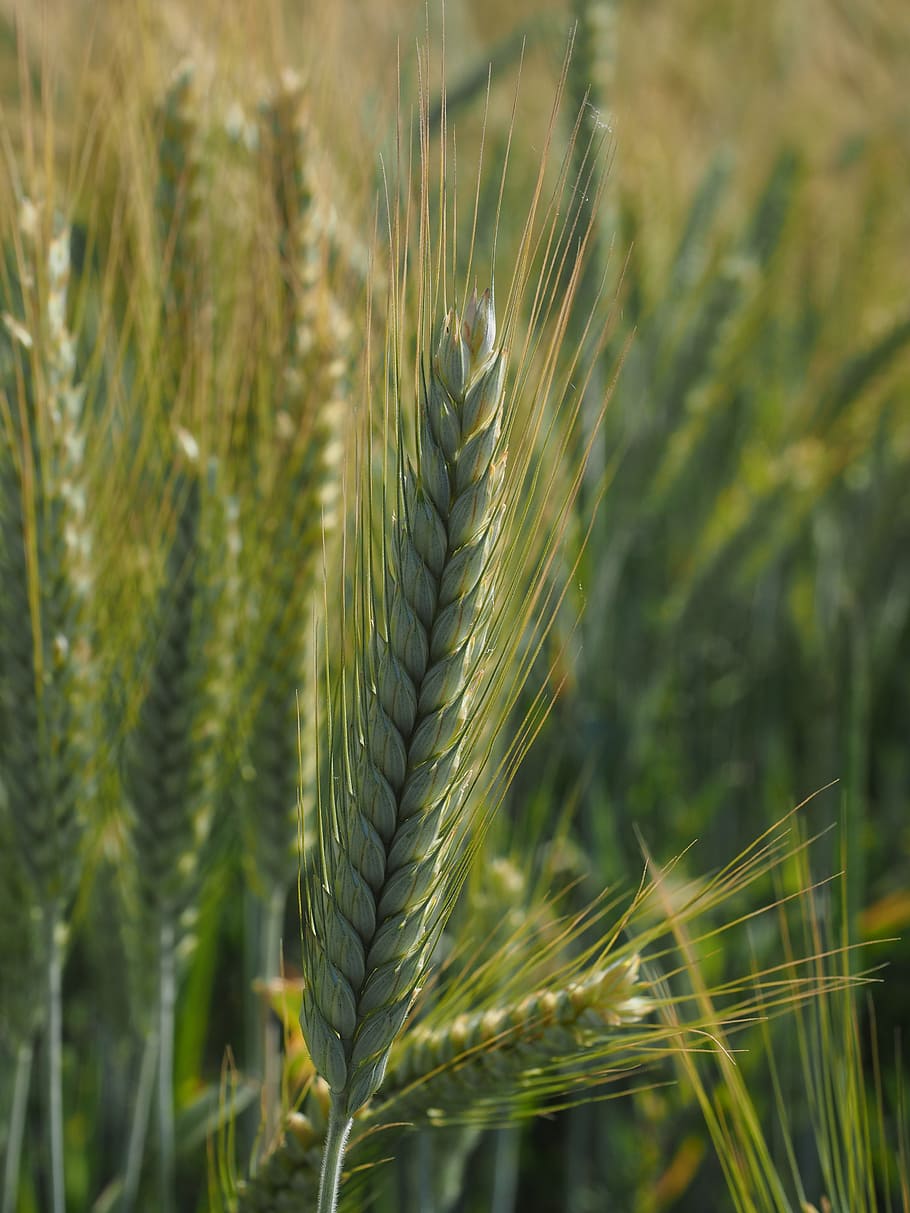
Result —
[[69, 228], [23, 203], [17, 260], [0, 330], [0, 768], [38, 900], [62, 915], [80, 869], [95, 694]]

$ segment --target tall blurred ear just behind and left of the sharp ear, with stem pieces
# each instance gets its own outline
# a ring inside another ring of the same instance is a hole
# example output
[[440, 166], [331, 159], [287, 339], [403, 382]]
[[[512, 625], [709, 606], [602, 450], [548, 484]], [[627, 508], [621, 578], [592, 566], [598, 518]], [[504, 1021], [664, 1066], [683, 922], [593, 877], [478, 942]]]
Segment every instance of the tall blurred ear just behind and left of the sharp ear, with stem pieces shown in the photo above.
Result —
[[[281, 966], [301, 822], [303, 838], [313, 835], [318, 718], [311, 634], [322, 608], [320, 574], [331, 563], [349, 412], [351, 326], [331, 283], [307, 102], [303, 82], [286, 72], [260, 108], [263, 238], [273, 269], [262, 311], [272, 314], [274, 331], [260, 366], [267, 392], [256, 418], [262, 433], [246, 519], [249, 639], [239, 713], [245, 872], [251, 917], [260, 922], [256, 973], [265, 979]], [[250, 1049], [263, 1077], [263, 1150], [280, 1103], [280, 1037], [274, 1016], [267, 1009], [265, 1015], [265, 1032]]]

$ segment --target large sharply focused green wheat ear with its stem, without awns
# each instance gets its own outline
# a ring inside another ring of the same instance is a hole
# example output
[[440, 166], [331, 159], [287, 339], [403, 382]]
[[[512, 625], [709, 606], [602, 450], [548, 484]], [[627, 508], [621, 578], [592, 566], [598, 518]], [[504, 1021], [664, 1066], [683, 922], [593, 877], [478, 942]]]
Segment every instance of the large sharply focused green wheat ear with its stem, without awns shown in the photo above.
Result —
[[308, 884], [301, 1027], [332, 1090], [320, 1213], [335, 1208], [351, 1118], [377, 1089], [437, 926], [460, 740], [490, 606], [501, 517], [505, 357], [493, 298], [453, 311], [400, 456], [383, 592], [366, 577], [356, 736]]

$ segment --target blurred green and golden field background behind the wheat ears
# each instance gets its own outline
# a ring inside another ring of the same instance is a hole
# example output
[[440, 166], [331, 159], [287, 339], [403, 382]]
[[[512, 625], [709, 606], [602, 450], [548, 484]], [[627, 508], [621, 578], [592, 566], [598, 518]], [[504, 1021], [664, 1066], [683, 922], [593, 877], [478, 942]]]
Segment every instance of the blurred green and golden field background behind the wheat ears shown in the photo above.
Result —
[[[883, 984], [858, 1003], [861, 1064], [869, 1098], [877, 1083], [883, 1106], [897, 1107], [908, 1082], [898, 1042], [910, 1023], [910, 6], [461, 0], [444, 22], [434, 5], [427, 12], [394, 0], [4, 0], [0, 12], [7, 161], [27, 143], [23, 114], [40, 108], [51, 63], [55, 143], [74, 183], [74, 249], [80, 228], [103, 213], [90, 187], [115, 193], [103, 172], [73, 169], [76, 124], [90, 115], [116, 123], [114, 104], [152, 110], [174, 66], [190, 57], [215, 131], [212, 159], [243, 142], [280, 68], [302, 73], [322, 188], [352, 262], [362, 255], [365, 264], [382, 165], [396, 160], [397, 123], [405, 146], [414, 123], [415, 47], [428, 38], [438, 72], [444, 42], [448, 120], [468, 183], [485, 121], [482, 227], [519, 91], [499, 247], [506, 280], [521, 228], [510, 216], [527, 210], [574, 40], [554, 161], [591, 136], [604, 141], [582, 295], [603, 283], [610, 301], [580, 445], [586, 418], [608, 391], [610, 399], [564, 556], [569, 593], [540, 659], [558, 690], [495, 844], [533, 867], [529, 820], [544, 847], [570, 813], [567, 879], [595, 892], [635, 885], [642, 844], [659, 862], [692, 848], [679, 872], [694, 877], [813, 797], [807, 831], [834, 827], [813, 862], [847, 872], [843, 894], [819, 902], [824, 930], [880, 941], [869, 955], [886, 966]], [[132, 64], [121, 79], [116, 62]], [[430, 92], [432, 109], [438, 81]], [[235, 198], [222, 197], [234, 207]], [[584, 216], [585, 192], [570, 205]], [[231, 222], [235, 215], [211, 216], [215, 229]], [[366, 290], [364, 278], [352, 287], [348, 318], [365, 309]], [[66, 1080], [81, 1092], [67, 1120], [72, 1207], [98, 1211], [109, 1207], [92, 1202], [109, 1179], [114, 1134], [103, 1104], [116, 1094], [92, 1061], [102, 1044], [86, 1053], [78, 1042], [91, 1036], [99, 1004], [123, 1001], [121, 945], [101, 928], [109, 879], [99, 866], [89, 865], [81, 885], [64, 1038]], [[176, 1089], [189, 1118], [181, 1123], [192, 1121], [184, 1139], [197, 1149], [211, 1107], [200, 1092], [211, 1098], [224, 1048], [244, 1031], [234, 974], [249, 922], [241, 902], [223, 895], [229, 871], [226, 864], [212, 878], [221, 892], [215, 909], [203, 901], [181, 986]], [[801, 878], [785, 870], [778, 892]], [[773, 963], [760, 933], [750, 946], [756, 963]], [[706, 951], [701, 961], [721, 983], [729, 957]], [[798, 1089], [787, 1084], [804, 1082], [785, 1036], [775, 1043], [780, 1081], [796, 1106]], [[757, 1052], [740, 1067], [769, 1141], [784, 1151]], [[730, 1207], [699, 1106], [669, 1078], [484, 1135], [473, 1179], [449, 1207]], [[789, 1139], [819, 1202], [818, 1160], [798, 1112]], [[388, 1168], [394, 1195], [377, 1195], [376, 1208], [420, 1207], [414, 1166], [405, 1157]], [[209, 1207], [205, 1167], [183, 1155], [180, 1174], [181, 1208]], [[905, 1192], [903, 1206], [886, 1203], [881, 1174], [874, 1188], [881, 1205], [870, 1208], [908, 1207]], [[40, 1184], [27, 1185], [16, 1207], [42, 1208]]]

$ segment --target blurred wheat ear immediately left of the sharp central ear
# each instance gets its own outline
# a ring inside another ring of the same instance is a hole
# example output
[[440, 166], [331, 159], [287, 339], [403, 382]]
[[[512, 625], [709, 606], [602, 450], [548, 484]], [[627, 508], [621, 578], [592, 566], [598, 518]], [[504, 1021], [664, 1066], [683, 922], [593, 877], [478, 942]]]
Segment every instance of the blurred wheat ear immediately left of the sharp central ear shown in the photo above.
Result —
[[[249, 696], [255, 704], [248, 736], [255, 788], [248, 855], [257, 887], [272, 896], [284, 894], [297, 862], [298, 731], [312, 735], [306, 716], [313, 697], [307, 694], [308, 615], [323, 540], [337, 520], [349, 325], [326, 281], [309, 181], [311, 129], [296, 76], [281, 78], [263, 116], [284, 295], [274, 375], [275, 457], [266, 485], [272, 503], [268, 529], [257, 542], [265, 556], [256, 621], [262, 642]], [[315, 782], [313, 747], [305, 746], [301, 757], [306, 819]], [[277, 959], [269, 963], [277, 966]]]

